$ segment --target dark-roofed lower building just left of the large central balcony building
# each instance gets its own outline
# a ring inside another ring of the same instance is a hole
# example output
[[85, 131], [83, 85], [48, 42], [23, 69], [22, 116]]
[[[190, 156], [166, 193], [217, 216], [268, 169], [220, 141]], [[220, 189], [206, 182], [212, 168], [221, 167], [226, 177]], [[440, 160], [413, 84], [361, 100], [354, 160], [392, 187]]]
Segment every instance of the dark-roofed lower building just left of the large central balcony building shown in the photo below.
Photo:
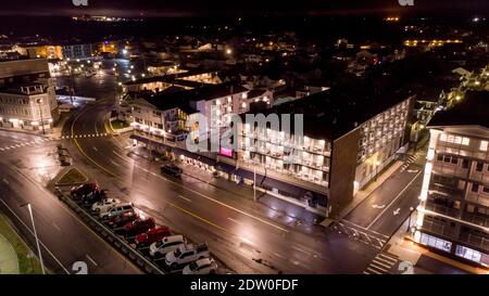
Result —
[[252, 99], [248, 99], [248, 89], [235, 83], [208, 85], [191, 90], [170, 87], [158, 93], [140, 91], [125, 96], [118, 106], [118, 114], [120, 119], [136, 130], [181, 142], [189, 129], [186, 127], [189, 116], [205, 116], [205, 132], [211, 125], [224, 127], [227, 114], [249, 110]]

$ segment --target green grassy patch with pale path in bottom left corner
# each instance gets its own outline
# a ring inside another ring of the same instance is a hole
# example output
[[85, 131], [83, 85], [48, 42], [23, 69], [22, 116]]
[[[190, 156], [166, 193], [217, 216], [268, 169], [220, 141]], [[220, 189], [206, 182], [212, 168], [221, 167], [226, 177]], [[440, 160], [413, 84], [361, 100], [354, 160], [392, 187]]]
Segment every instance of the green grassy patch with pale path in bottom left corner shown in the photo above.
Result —
[[0, 274], [42, 274], [35, 253], [0, 214]]

